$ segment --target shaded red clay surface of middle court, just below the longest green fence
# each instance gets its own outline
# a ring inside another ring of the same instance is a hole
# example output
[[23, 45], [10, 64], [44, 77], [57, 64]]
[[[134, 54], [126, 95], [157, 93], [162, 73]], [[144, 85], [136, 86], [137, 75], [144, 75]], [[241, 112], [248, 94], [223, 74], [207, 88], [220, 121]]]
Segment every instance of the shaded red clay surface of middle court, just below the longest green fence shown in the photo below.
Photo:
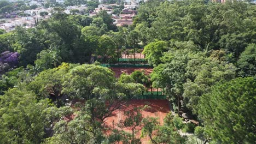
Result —
[[152, 73], [153, 69], [151, 68], [110, 68], [114, 71], [115, 77], [120, 77], [121, 74], [126, 73], [126, 74], [131, 74], [135, 70], [140, 70], [144, 71], [146, 75], [149, 75]]

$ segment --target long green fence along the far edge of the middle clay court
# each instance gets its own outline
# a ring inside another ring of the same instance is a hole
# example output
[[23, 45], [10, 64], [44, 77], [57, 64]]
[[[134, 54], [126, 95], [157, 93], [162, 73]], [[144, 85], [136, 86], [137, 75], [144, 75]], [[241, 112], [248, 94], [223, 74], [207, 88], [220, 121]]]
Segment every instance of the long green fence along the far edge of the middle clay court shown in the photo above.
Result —
[[149, 64], [101, 64], [101, 66], [107, 68], [153, 68]]

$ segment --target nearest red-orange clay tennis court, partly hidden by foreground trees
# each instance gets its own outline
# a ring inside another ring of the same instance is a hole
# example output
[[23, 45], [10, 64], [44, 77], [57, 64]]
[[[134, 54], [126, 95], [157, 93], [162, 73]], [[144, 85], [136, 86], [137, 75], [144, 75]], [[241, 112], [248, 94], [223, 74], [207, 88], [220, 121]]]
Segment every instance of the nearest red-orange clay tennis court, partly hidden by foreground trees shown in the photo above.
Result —
[[[130, 129], [127, 128], [119, 128], [118, 123], [121, 120], [125, 120], [126, 116], [124, 115], [124, 112], [126, 111], [132, 111], [135, 107], [143, 107], [145, 105], [150, 106], [149, 109], [143, 110], [142, 116], [144, 118], [146, 117], [157, 117], [159, 118], [159, 123], [163, 124], [164, 123], [164, 118], [167, 115], [168, 112], [170, 112], [170, 107], [168, 100], [152, 100], [152, 99], [146, 99], [146, 100], [130, 100], [126, 105], [122, 106], [120, 109], [115, 110], [113, 112], [112, 117], [109, 117], [107, 121], [105, 122], [106, 127], [110, 129], [119, 129], [119, 130], [124, 130], [126, 132], [131, 133]], [[140, 130], [141, 128], [138, 128], [137, 130]], [[136, 136], [139, 138], [141, 135], [141, 131], [139, 131]], [[149, 137], [143, 137], [141, 139], [141, 142], [143, 144], [146, 143], [151, 143]]]

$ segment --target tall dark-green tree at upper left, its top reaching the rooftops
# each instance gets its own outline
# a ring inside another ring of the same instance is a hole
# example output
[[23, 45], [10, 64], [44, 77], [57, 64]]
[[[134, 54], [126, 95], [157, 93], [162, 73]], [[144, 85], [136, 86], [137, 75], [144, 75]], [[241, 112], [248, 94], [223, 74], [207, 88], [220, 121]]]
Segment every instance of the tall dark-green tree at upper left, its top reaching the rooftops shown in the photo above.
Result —
[[41, 39], [38, 41], [47, 49], [51, 47], [51, 50], [60, 51], [60, 57], [65, 62], [89, 62], [90, 53], [81, 37], [82, 27], [67, 14], [62, 14], [61, 8], [54, 9], [57, 12], [53, 14], [53, 19], [40, 22], [38, 37]]

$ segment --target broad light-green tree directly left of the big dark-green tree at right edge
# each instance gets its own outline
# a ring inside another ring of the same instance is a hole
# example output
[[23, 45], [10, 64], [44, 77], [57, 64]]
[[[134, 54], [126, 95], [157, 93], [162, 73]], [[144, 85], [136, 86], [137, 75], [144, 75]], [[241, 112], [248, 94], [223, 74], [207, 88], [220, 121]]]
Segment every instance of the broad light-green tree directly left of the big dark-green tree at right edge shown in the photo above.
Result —
[[188, 78], [183, 84], [183, 104], [193, 113], [197, 113], [202, 94], [209, 92], [214, 83], [235, 78], [236, 67], [226, 63], [224, 56], [221, 51], [212, 51], [208, 58], [200, 52], [190, 56], [185, 73]]

